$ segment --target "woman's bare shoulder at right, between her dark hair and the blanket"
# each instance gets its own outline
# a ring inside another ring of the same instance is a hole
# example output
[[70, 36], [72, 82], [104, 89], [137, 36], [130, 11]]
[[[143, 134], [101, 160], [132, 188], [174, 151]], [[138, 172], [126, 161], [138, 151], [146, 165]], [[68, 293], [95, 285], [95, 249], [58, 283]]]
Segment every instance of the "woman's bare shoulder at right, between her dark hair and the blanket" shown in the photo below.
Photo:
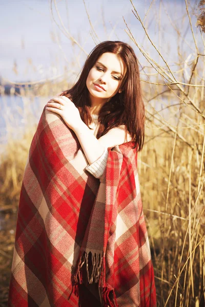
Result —
[[99, 138], [99, 142], [106, 147], [121, 145], [130, 141], [132, 141], [132, 137], [128, 133], [125, 125], [112, 128], [106, 135]]

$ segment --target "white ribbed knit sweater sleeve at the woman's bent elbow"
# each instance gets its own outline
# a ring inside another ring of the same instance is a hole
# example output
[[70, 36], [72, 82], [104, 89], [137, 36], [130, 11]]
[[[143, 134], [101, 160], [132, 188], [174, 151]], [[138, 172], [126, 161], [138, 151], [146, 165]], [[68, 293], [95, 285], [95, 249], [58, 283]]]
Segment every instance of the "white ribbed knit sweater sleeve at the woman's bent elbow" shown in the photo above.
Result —
[[108, 160], [108, 148], [105, 148], [103, 155], [101, 155], [92, 164], [88, 164], [86, 170], [88, 170], [95, 178], [100, 178], [107, 165]]

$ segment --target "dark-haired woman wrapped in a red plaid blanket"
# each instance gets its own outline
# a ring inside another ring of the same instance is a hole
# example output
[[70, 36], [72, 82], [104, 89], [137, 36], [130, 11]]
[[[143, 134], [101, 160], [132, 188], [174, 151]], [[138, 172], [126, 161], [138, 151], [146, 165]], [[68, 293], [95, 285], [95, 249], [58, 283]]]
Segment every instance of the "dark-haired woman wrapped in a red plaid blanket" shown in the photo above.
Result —
[[10, 306], [156, 306], [137, 173], [143, 142], [134, 51], [102, 42], [72, 89], [47, 103], [33, 138]]

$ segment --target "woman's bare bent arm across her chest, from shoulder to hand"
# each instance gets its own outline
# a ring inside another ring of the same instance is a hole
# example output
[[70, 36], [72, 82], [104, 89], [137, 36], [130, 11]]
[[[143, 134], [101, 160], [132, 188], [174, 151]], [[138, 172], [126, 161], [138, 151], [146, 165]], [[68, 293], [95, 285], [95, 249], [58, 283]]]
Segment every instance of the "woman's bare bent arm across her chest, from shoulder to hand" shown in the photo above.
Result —
[[96, 139], [89, 127], [81, 120], [77, 107], [65, 96], [50, 100], [47, 103], [47, 109], [60, 115], [68, 127], [74, 131], [89, 164], [99, 159], [106, 148], [131, 141], [125, 126], [112, 128], [106, 135]]

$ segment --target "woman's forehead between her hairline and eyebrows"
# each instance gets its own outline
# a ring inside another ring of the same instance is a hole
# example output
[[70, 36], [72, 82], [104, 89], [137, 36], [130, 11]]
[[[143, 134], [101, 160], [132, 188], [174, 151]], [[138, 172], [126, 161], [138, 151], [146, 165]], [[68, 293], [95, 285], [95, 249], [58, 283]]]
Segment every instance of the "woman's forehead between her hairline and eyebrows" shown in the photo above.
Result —
[[122, 75], [126, 70], [124, 62], [116, 54], [111, 52], [101, 54], [97, 62], [104, 64], [107, 69], [113, 72], [119, 72]]

